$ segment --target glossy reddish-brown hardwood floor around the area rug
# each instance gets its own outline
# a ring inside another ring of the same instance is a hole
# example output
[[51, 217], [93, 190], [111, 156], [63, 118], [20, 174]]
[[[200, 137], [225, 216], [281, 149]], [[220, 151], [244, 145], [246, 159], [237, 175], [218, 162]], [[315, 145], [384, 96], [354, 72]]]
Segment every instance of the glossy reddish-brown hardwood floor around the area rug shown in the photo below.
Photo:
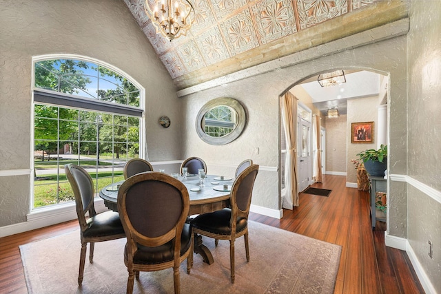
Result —
[[[249, 219], [342, 246], [334, 293], [424, 293], [407, 253], [384, 246], [382, 222], [371, 229], [369, 193], [345, 187], [346, 177], [325, 175], [313, 187], [329, 197], [300, 194], [300, 207], [278, 220], [250, 213]], [[19, 245], [78, 229], [76, 220], [0, 238], [0, 293], [27, 293]], [[252, 240], [250, 240], [252, 242]]]

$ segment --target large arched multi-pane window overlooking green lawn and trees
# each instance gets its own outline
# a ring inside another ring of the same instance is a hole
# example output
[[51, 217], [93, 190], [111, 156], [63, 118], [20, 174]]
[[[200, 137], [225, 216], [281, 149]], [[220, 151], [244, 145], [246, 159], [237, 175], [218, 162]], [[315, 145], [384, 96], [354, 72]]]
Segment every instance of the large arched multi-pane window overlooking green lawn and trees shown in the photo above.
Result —
[[123, 180], [125, 162], [143, 150], [143, 88], [92, 59], [40, 58], [33, 66], [33, 207], [74, 200], [68, 163], [89, 172], [96, 193]]

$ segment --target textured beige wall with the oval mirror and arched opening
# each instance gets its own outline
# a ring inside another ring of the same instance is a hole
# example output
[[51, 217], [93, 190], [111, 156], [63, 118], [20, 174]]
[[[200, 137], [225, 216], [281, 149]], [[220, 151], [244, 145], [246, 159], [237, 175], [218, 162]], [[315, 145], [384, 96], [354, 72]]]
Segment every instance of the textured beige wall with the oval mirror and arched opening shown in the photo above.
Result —
[[[279, 158], [278, 130], [280, 113], [278, 107], [279, 95], [294, 83], [303, 78], [313, 76], [334, 68], [360, 68], [377, 70], [391, 76], [391, 100], [398, 104], [406, 104], [406, 38], [399, 36], [387, 41], [372, 43], [351, 50], [344, 50], [329, 56], [311, 57], [311, 61], [280, 68], [265, 74], [244, 78], [218, 87], [202, 90], [183, 97], [183, 157], [202, 156], [207, 163], [236, 165], [244, 158], [252, 158], [262, 166], [277, 167]], [[313, 57], [315, 57], [313, 59]], [[247, 127], [234, 142], [223, 146], [210, 146], [203, 143], [196, 134], [194, 127], [198, 110], [207, 101], [230, 96], [243, 103], [249, 120]], [[391, 110], [393, 116], [393, 109]], [[405, 119], [405, 118], [404, 118]], [[404, 127], [404, 130], [402, 129]], [[391, 125], [390, 132], [406, 134], [405, 125]], [[391, 139], [391, 144], [395, 144]], [[254, 154], [259, 147], [260, 154]], [[406, 162], [406, 153], [398, 154], [401, 165]], [[210, 170], [211, 167], [209, 167]], [[404, 169], [405, 170], [405, 169]], [[253, 204], [270, 209], [280, 209], [278, 198], [279, 178], [277, 172], [265, 171], [259, 174], [254, 189]], [[402, 220], [400, 220], [402, 222]]]

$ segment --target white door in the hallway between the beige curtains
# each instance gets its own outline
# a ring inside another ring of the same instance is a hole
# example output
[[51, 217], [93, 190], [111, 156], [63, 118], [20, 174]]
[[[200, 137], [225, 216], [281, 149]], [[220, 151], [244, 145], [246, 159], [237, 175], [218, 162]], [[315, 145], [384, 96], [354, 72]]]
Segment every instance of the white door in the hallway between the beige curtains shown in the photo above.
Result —
[[309, 186], [312, 175], [311, 156], [311, 123], [298, 118], [297, 140], [297, 167], [298, 167], [298, 191], [303, 191]]

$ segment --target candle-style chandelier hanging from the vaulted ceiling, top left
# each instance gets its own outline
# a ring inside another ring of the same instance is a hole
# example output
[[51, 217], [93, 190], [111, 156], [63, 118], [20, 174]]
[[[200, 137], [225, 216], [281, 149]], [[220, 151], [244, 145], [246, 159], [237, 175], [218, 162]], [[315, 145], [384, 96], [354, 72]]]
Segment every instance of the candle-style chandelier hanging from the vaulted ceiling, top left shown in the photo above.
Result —
[[187, 0], [145, 0], [145, 12], [156, 33], [170, 41], [185, 36], [194, 21], [194, 8]]

